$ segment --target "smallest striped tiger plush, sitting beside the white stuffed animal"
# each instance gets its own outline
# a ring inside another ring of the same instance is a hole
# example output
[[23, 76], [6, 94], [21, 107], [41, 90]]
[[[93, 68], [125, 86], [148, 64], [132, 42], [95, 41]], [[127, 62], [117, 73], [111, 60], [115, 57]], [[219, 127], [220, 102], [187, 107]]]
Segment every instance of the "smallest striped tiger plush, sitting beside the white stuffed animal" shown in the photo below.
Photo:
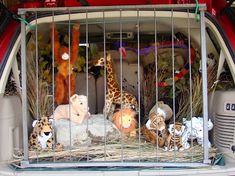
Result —
[[184, 133], [185, 126], [182, 123], [175, 122], [175, 124], [170, 124], [168, 131], [169, 135], [167, 137], [167, 142], [165, 150], [173, 151], [183, 151], [185, 148], [182, 144], [182, 134]]

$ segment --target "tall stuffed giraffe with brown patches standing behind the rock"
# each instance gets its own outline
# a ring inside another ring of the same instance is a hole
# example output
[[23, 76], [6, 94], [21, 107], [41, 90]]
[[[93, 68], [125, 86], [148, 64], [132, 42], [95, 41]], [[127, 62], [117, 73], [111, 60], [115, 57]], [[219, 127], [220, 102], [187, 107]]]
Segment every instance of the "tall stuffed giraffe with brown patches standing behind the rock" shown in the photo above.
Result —
[[[105, 59], [98, 59], [94, 65], [95, 66], [104, 66]], [[112, 105], [122, 105], [122, 108], [131, 108], [138, 110], [138, 103], [134, 95], [120, 90], [119, 84], [116, 80], [116, 75], [113, 68], [113, 62], [110, 54], [107, 54], [106, 57], [106, 69], [107, 69], [107, 92], [106, 92], [106, 104], [104, 108], [104, 113], [106, 112], [106, 117], [112, 115], [113, 109]]]

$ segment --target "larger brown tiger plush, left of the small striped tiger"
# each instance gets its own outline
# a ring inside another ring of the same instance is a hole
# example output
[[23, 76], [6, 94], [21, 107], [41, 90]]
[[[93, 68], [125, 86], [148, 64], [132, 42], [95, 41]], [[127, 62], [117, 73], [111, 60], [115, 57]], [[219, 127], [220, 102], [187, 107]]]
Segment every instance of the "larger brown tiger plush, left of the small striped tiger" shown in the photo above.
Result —
[[168, 131], [165, 124], [166, 113], [161, 109], [157, 109], [156, 112], [151, 112], [149, 120], [141, 128], [141, 133], [145, 137], [145, 140], [152, 144], [157, 144], [159, 147], [165, 146]]

